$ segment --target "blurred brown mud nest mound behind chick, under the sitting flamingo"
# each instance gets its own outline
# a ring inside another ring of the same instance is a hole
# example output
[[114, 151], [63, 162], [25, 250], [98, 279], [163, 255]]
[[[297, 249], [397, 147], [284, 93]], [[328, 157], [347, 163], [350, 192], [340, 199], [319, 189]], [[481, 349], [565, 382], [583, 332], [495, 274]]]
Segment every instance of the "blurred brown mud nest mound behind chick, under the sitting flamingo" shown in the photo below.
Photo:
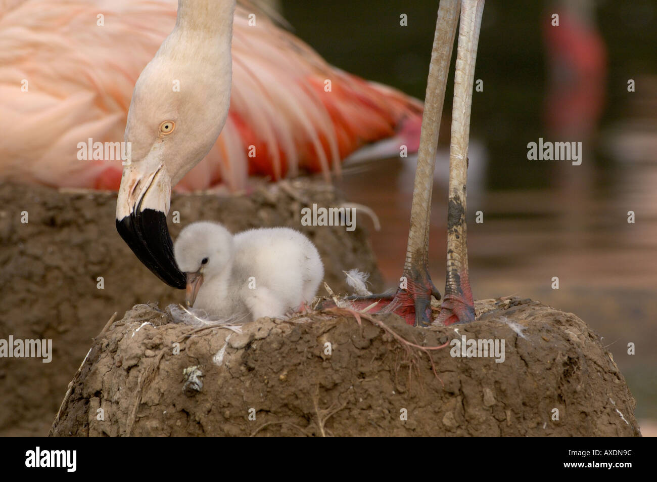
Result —
[[[238, 231], [291, 226], [317, 245], [325, 279], [347, 293], [342, 270], [381, 277], [369, 248], [371, 226], [358, 214], [357, 228], [304, 227], [305, 205], [342, 201], [323, 183], [290, 181], [258, 187], [250, 195], [173, 195], [169, 227], [175, 237], [196, 220], [219, 220]], [[0, 358], [0, 435], [45, 435], [62, 395], [95, 337], [114, 312], [145, 302], [183, 301], [184, 292], [166, 286], [145, 268], [114, 227], [116, 193], [57, 191], [48, 187], [0, 185], [0, 338], [53, 339], [53, 360]], [[28, 212], [28, 223], [21, 212]], [[174, 224], [172, 214], [180, 213]], [[97, 277], [104, 289], [97, 289]]]

